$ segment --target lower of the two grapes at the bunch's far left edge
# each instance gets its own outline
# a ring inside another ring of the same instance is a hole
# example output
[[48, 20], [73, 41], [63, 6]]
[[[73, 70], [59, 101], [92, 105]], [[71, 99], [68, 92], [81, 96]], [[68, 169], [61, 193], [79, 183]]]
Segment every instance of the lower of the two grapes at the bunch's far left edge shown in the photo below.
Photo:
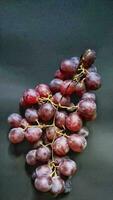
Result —
[[12, 128], [8, 137], [11, 143], [20, 143], [24, 140], [24, 130], [22, 128]]

